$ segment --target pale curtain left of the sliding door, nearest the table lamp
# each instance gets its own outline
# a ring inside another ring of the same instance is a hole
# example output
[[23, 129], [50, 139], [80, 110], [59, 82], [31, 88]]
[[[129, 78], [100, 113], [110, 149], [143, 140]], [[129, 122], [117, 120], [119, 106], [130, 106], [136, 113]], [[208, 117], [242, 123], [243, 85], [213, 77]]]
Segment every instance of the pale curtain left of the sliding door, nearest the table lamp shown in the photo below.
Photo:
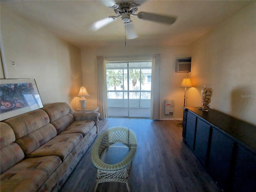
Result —
[[108, 96], [106, 80], [106, 60], [104, 56], [96, 56], [97, 80], [98, 80], [98, 106], [100, 118], [108, 118]]

